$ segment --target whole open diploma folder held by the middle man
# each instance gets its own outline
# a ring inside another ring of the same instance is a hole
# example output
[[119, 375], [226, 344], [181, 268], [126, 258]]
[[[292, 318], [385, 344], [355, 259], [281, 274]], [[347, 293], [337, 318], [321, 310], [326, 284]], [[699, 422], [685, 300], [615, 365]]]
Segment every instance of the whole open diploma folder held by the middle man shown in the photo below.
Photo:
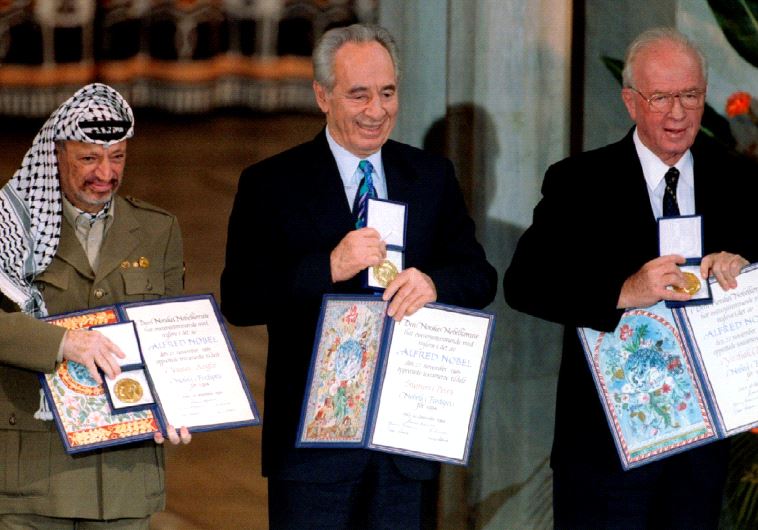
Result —
[[427, 304], [395, 322], [378, 296], [327, 295], [298, 447], [468, 463], [494, 315]]

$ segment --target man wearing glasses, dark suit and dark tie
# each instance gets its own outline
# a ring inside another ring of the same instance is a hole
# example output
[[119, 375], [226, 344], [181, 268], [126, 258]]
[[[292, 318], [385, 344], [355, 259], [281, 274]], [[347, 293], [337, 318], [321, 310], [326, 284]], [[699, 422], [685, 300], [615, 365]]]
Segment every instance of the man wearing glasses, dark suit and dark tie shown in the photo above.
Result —
[[716, 528], [728, 447], [714, 442], [623, 471], [576, 327], [613, 331], [624, 309], [686, 301], [682, 256], [658, 255], [656, 218], [700, 214], [703, 279], [737, 285], [758, 259], [755, 169], [698, 134], [707, 68], [681, 33], [657, 28], [629, 47], [621, 141], [545, 174], [532, 226], [504, 278], [508, 303], [565, 324], [553, 468], [557, 528]]

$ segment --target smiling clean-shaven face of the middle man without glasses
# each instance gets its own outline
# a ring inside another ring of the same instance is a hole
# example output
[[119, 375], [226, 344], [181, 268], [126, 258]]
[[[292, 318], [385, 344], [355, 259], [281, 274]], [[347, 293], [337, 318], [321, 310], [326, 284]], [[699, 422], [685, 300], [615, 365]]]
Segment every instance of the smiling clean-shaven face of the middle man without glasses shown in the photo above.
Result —
[[381, 149], [395, 127], [397, 79], [389, 52], [378, 42], [347, 42], [334, 56], [334, 87], [313, 83], [335, 141], [359, 158]]

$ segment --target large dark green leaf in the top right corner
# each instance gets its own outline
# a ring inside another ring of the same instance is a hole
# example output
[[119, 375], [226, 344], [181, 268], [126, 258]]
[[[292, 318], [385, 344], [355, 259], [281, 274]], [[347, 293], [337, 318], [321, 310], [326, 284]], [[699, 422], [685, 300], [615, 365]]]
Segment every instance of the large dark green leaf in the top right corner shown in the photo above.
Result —
[[729, 44], [758, 67], [758, 0], [708, 0], [708, 5]]

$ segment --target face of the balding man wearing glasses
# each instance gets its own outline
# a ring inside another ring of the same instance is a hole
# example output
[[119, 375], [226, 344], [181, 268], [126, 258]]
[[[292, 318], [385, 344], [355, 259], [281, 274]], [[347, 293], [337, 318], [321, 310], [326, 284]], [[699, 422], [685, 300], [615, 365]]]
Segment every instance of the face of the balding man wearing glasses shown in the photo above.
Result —
[[[680, 44], [662, 40], [641, 50], [633, 65], [634, 88], [650, 97], [656, 93], [705, 91], [705, 79], [694, 53]], [[674, 165], [695, 141], [703, 107], [685, 109], [679, 98], [668, 112], [653, 112], [648, 102], [630, 88], [622, 90], [629, 115], [645, 146], [665, 164]]]

